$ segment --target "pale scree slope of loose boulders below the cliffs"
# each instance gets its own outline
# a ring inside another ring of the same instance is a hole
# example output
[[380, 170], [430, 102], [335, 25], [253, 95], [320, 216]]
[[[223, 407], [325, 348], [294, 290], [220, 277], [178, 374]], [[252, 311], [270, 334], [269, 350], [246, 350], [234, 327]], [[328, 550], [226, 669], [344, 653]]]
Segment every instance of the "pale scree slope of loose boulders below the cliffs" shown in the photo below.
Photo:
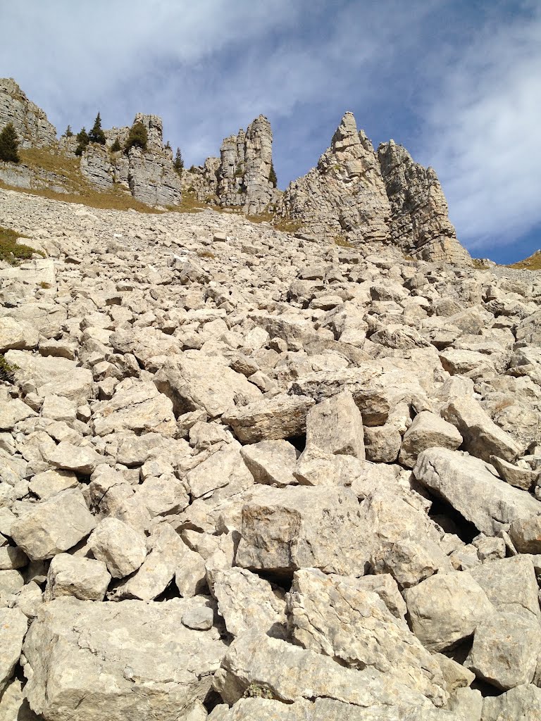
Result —
[[0, 267], [3, 721], [541, 719], [540, 280], [211, 210], [0, 225], [45, 255]]

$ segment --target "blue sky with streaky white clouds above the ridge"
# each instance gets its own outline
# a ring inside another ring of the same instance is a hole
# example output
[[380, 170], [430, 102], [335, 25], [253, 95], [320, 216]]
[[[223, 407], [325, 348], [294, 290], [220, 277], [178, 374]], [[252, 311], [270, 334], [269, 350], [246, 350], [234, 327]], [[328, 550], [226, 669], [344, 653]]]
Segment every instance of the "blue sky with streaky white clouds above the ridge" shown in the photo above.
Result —
[[285, 188], [351, 110], [436, 169], [472, 255], [541, 248], [540, 0], [0, 0], [0, 27], [59, 134], [154, 113], [189, 167], [263, 113]]

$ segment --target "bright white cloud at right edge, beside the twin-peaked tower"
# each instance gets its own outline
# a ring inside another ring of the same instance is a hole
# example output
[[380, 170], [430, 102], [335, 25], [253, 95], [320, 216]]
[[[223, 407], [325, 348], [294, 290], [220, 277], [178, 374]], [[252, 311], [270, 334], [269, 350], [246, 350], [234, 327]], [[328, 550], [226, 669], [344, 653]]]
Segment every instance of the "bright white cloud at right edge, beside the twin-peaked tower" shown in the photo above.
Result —
[[459, 238], [488, 252], [541, 221], [541, 9], [489, 23], [452, 63], [420, 144]]

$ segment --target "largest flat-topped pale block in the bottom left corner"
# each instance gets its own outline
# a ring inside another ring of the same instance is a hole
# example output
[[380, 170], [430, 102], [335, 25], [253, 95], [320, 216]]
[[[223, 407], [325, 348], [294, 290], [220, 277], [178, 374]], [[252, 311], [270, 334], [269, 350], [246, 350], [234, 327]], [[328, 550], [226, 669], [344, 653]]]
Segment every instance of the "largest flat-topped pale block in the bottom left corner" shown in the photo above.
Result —
[[[214, 629], [185, 628], [184, 611], [179, 599], [45, 603], [24, 647], [30, 707], [51, 720], [184, 717], [206, 696], [226, 651]], [[70, 673], [56, 673], [64, 665]]]

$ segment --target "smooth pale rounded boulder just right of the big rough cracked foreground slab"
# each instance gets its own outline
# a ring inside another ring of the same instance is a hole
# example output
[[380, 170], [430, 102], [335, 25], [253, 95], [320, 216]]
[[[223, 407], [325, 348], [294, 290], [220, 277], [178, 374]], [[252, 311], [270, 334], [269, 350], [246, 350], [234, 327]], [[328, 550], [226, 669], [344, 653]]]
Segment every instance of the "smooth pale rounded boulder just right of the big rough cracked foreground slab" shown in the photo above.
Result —
[[431, 651], [471, 636], [494, 613], [485, 591], [465, 572], [438, 574], [405, 590], [413, 633]]

